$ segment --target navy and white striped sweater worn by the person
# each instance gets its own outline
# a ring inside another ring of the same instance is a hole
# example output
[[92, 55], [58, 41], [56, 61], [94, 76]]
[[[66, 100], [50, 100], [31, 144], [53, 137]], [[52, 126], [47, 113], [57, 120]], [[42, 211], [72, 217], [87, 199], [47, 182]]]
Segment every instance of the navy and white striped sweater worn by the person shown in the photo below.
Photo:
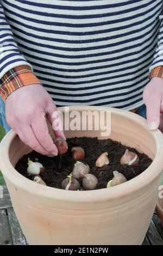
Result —
[[0, 0], [0, 78], [26, 65], [57, 106], [139, 107], [163, 65], [162, 3]]

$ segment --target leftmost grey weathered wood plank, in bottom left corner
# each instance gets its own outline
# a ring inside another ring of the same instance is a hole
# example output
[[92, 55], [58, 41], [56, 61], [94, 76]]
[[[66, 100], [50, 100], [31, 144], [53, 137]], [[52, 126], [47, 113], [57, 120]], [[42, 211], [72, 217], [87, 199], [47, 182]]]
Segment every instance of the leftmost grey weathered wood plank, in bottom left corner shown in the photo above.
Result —
[[5, 210], [0, 210], [0, 245], [11, 245], [9, 223]]

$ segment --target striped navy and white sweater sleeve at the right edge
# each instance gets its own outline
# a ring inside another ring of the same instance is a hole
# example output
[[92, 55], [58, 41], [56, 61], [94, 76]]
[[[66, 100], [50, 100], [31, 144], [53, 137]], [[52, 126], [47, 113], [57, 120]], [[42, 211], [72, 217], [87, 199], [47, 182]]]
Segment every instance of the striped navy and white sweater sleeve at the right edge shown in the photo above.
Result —
[[159, 16], [159, 19], [160, 19], [160, 31], [158, 35], [158, 44], [156, 46], [153, 63], [149, 68], [150, 72], [155, 71], [155, 68], [158, 66], [163, 66], [163, 10]]

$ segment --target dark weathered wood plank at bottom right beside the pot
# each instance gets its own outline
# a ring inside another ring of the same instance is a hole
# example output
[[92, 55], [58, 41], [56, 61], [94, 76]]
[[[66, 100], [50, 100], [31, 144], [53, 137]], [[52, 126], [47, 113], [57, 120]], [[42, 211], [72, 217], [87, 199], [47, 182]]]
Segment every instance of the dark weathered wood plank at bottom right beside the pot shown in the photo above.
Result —
[[159, 234], [158, 229], [155, 227], [155, 224], [153, 220], [151, 221], [151, 224], [149, 225], [148, 231], [147, 231], [147, 237], [151, 245], [163, 245], [162, 238]]

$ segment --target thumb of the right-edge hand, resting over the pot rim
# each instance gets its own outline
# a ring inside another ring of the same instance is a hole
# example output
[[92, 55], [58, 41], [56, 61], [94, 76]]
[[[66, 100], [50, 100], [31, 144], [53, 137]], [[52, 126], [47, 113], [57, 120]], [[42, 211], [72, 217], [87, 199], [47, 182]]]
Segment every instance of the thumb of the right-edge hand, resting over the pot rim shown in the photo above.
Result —
[[159, 100], [155, 100], [155, 102], [147, 101], [146, 107], [148, 128], [155, 131], [160, 124], [160, 102]]

